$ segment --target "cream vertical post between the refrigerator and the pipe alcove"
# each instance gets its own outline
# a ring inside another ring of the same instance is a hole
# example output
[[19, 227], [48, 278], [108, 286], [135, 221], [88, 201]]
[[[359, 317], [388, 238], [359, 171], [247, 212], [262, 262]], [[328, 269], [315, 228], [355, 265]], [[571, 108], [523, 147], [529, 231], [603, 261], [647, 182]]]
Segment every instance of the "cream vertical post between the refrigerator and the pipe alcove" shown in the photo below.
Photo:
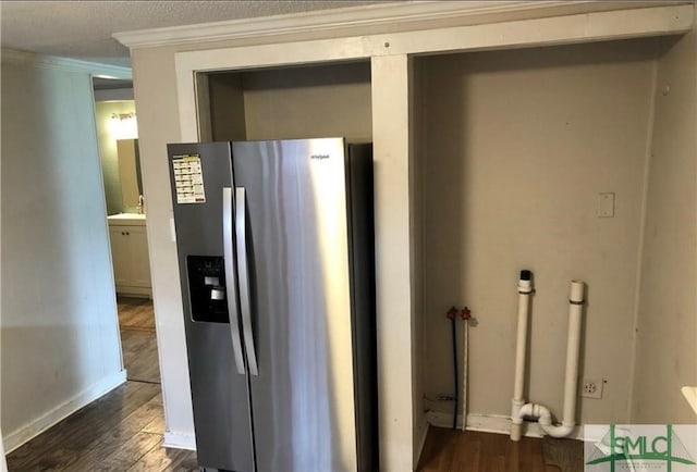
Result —
[[406, 54], [371, 60], [378, 389], [383, 471], [414, 470], [415, 465], [412, 463], [409, 67]]

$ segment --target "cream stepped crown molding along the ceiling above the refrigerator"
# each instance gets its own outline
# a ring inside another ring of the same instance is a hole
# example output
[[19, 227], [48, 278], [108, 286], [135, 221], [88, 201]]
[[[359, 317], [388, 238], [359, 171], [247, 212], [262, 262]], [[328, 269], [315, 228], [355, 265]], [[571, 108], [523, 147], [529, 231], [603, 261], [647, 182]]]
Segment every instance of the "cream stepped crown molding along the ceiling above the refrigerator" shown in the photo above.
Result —
[[[560, 8], [578, 13], [579, 7], [607, 4], [598, 1], [408, 1], [350, 7], [344, 9], [318, 10], [305, 13], [231, 20], [197, 25], [171, 26], [115, 33], [113, 37], [132, 49], [184, 45], [191, 42], [222, 39], [258, 38], [299, 33], [331, 30], [335, 35], [341, 29], [355, 27], [393, 26], [395, 23], [437, 22], [453, 17], [476, 18], [477, 16], [538, 11], [540, 14]], [[634, 3], [634, 7], [631, 7]], [[657, 3], [657, 2], [652, 2]], [[627, 7], [629, 4], [629, 7]], [[617, 2], [617, 8], [640, 8], [648, 2]], [[574, 11], [576, 10], [576, 11]]]

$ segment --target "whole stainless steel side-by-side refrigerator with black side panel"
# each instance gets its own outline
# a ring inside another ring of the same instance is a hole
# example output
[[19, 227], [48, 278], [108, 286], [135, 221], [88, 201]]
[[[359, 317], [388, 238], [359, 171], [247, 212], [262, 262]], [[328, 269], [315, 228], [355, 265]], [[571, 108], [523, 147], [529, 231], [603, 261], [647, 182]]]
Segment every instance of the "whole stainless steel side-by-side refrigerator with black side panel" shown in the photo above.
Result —
[[168, 153], [199, 464], [378, 470], [371, 146]]

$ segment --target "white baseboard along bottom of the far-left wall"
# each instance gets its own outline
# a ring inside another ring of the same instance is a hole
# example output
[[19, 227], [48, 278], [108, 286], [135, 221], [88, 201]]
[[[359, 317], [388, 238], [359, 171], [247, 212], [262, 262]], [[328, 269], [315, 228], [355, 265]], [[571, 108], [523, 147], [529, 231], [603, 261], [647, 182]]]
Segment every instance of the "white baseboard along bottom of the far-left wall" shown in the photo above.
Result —
[[123, 384], [125, 381], [126, 381], [125, 370], [122, 370], [120, 372], [117, 372], [115, 374], [109, 375], [108, 377], [102, 378], [101, 381], [97, 382], [96, 384], [93, 384], [90, 387], [75, 395], [73, 398], [71, 398], [66, 402], [59, 405], [52, 410], [41, 414], [39, 418], [36, 418], [30, 422], [28, 422], [27, 424], [13, 431], [12, 433], [7, 434], [2, 438], [2, 442], [4, 443], [5, 454], [12, 452], [14, 449], [22, 446], [24, 443], [44, 433], [46, 430], [53, 426], [56, 423], [70, 417], [81, 408], [91, 403], [97, 398], [113, 390], [119, 385]]

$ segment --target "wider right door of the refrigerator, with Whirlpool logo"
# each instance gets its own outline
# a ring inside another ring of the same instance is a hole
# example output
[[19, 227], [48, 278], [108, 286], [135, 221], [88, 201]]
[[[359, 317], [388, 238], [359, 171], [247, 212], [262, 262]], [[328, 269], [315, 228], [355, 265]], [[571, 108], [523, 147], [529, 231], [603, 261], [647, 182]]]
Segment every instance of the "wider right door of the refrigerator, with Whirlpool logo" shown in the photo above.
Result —
[[257, 470], [355, 471], [344, 141], [233, 142], [232, 154], [246, 190]]

